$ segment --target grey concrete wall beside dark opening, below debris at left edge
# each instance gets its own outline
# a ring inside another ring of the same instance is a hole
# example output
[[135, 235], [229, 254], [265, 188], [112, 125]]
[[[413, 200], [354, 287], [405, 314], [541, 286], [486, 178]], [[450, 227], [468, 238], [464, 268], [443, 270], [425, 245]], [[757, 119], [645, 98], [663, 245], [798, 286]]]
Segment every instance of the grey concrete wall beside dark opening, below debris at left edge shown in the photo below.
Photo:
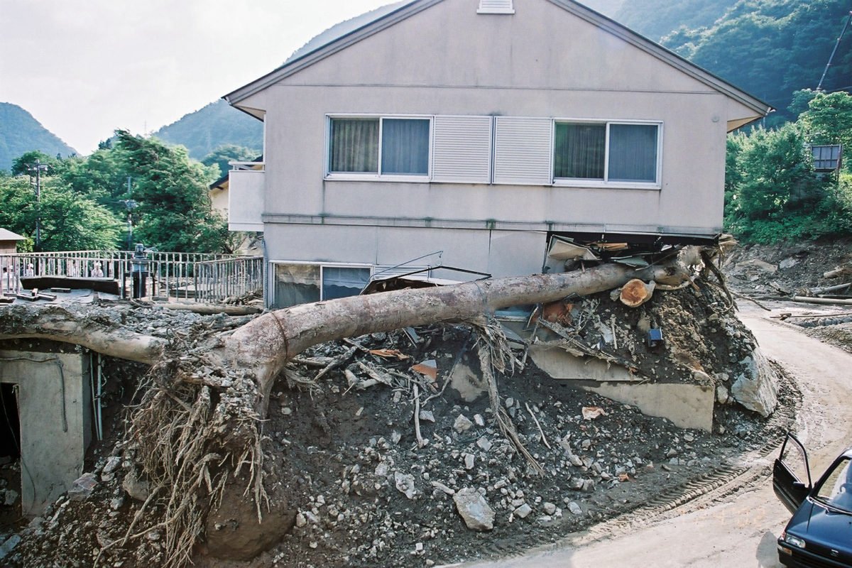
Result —
[[0, 350], [3, 395], [17, 409], [21, 513], [36, 517], [83, 473], [92, 435], [88, 353]]

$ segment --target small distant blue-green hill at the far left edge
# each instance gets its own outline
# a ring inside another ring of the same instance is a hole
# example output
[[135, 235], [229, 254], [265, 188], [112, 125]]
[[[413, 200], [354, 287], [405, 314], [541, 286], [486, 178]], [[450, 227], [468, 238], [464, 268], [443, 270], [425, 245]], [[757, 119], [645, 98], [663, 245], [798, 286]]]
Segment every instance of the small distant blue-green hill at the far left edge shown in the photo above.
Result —
[[0, 169], [10, 169], [14, 158], [32, 150], [63, 158], [77, 153], [20, 106], [0, 102]]

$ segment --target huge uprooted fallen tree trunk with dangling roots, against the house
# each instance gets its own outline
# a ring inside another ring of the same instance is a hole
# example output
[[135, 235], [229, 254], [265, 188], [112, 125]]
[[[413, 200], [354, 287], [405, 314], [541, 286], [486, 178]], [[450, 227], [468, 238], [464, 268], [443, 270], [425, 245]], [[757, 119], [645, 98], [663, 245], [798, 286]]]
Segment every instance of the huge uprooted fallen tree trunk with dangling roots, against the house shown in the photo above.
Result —
[[[190, 341], [180, 334], [166, 341], [133, 333], [102, 314], [87, 314], [85, 307], [79, 312], [0, 307], [0, 339], [66, 341], [153, 364], [153, 387], [135, 408], [128, 436], [138, 445], [153, 491], [166, 496], [164, 518], [155, 526], [165, 527], [164, 565], [176, 567], [190, 561], [208, 508], [222, 502], [228, 479], [245, 482], [245, 492], [230, 491], [227, 498], [241, 502], [250, 494], [258, 522], [263, 505], [275, 506], [263, 486], [258, 419], [266, 415], [275, 378], [308, 347], [414, 325], [471, 321], [504, 307], [613, 290], [631, 278], [675, 286], [692, 278], [701, 264], [700, 249], [686, 247], [662, 264], [638, 270], [611, 263], [571, 273], [356, 296], [265, 313], [233, 332]], [[206, 492], [199, 489], [202, 480]], [[130, 530], [123, 542], [144, 534]]]

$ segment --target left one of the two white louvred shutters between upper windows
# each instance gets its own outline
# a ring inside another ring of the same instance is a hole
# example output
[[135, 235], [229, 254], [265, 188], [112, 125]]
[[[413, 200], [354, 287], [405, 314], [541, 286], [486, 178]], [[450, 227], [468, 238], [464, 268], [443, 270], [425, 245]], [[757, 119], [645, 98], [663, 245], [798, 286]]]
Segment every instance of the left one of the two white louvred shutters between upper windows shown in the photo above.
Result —
[[432, 181], [491, 181], [491, 117], [436, 116]]

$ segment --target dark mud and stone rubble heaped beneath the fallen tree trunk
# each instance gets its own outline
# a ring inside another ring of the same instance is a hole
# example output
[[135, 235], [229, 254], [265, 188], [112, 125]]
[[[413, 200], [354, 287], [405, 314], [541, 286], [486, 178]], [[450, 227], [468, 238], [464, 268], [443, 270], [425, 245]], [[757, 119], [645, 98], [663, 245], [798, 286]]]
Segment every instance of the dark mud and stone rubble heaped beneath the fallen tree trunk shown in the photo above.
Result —
[[[186, 336], [196, 328], [227, 326], [223, 316], [153, 308], [90, 311], [89, 317], [120, 318], [131, 329], [166, 337], [174, 330]], [[567, 301], [556, 313], [550, 328], [538, 325], [540, 341], [570, 339], [575, 351], [624, 363], [638, 377], [658, 382], [709, 382], [727, 392], [753, 346], [728, 298], [703, 280], [657, 292], [636, 309], [604, 293]], [[649, 347], [648, 328], [663, 330], [665, 341]], [[303, 353], [293, 370], [308, 379], [320, 370], [318, 362], [351, 356], [312, 387], [284, 378], [273, 387], [263, 433], [274, 505], [264, 522], [276, 527], [274, 542], [253, 560], [212, 558], [239, 557], [256, 546], [257, 531], [240, 530], [253, 514], [247, 496], [244, 510], [211, 517], [210, 546], [199, 547], [195, 565], [428, 566], [517, 552], [676, 499], [691, 481], [775, 439], [789, 420], [785, 413], [767, 421], [736, 404], [717, 404], [713, 432], [682, 429], [551, 379], [516, 346], [515, 364], [525, 364], [498, 374], [499, 404], [526, 457], [497, 426], [476, 341], [471, 328], [451, 324], [363, 336], [354, 344], [332, 342]], [[429, 361], [435, 361], [434, 378], [428, 370], [412, 370], [424, 362], [428, 368]], [[383, 373], [383, 382], [367, 386], [370, 370]], [[123, 439], [121, 409], [132, 402], [143, 370], [116, 362], [110, 376], [114, 422], [107, 441], [89, 450], [85, 468], [98, 485], [79, 501], [60, 497], [20, 531], [20, 542], [3, 562], [97, 561], [116, 568], [164, 562], [162, 543], [170, 529], [156, 526], [161, 505], [152, 499], [140, 513], [142, 502], [127, 491], [137, 456]], [[415, 384], [424, 445], [417, 443], [413, 420]], [[792, 387], [782, 382], [780, 397], [792, 405]], [[471, 530], [459, 515], [454, 496], [469, 490], [492, 509], [491, 530]], [[15, 506], [20, 514], [20, 501], [0, 504]], [[0, 542], [24, 524], [0, 527]]]

